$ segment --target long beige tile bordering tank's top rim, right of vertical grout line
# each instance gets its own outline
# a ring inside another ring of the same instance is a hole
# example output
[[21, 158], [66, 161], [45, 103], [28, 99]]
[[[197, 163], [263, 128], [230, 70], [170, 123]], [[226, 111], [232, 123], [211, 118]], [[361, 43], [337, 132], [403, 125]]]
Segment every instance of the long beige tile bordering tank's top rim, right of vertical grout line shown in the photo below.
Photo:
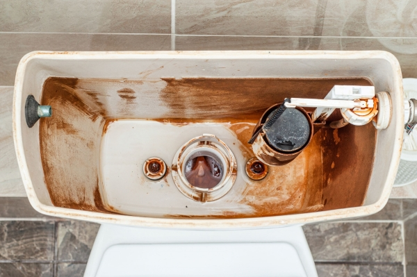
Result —
[[382, 50], [399, 60], [404, 78], [417, 77], [417, 38], [221, 37], [176, 38], [176, 50]]

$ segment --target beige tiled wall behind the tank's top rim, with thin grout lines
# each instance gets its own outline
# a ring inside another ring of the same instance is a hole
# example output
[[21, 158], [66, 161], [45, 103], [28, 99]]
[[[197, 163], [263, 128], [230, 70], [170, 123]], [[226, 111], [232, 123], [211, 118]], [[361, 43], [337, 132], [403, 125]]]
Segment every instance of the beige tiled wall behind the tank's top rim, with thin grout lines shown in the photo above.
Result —
[[385, 50], [417, 76], [408, 0], [2, 0], [0, 85], [45, 51]]

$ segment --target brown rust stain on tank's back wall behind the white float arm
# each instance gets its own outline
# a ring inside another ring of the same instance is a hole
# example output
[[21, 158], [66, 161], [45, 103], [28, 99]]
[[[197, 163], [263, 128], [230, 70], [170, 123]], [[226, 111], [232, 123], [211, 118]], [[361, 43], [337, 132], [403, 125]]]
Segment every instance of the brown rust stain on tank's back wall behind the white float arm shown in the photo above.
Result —
[[163, 78], [160, 97], [177, 118], [258, 120], [286, 97], [324, 98], [337, 85], [370, 85], [364, 78]]

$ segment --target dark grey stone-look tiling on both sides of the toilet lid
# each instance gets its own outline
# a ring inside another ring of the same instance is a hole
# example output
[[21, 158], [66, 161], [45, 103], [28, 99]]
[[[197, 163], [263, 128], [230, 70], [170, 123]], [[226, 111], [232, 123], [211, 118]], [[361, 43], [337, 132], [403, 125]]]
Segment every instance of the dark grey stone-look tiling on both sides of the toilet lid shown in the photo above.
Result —
[[[0, 197], [0, 219], [1, 277], [83, 276], [99, 224], [40, 215], [24, 197]], [[319, 277], [416, 277], [416, 227], [417, 200], [391, 199], [371, 217], [303, 228]]]

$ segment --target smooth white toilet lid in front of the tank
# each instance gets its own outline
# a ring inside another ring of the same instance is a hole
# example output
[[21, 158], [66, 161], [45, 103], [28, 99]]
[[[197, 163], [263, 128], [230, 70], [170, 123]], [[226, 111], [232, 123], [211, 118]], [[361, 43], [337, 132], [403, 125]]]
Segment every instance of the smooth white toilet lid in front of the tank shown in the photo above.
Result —
[[104, 252], [96, 276], [307, 275], [300, 256], [291, 244], [243, 242], [117, 244]]

